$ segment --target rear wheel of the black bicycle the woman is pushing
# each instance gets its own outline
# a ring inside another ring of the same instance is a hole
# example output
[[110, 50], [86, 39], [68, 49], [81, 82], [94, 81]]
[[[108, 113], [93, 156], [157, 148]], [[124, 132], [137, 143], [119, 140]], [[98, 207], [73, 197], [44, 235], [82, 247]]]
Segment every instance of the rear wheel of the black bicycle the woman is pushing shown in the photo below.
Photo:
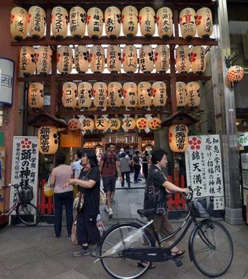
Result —
[[[141, 226], [136, 223], [125, 223], [111, 227], [103, 236], [100, 255], [109, 249], [116, 247], [117, 243], [121, 243], [121, 250], [125, 248], [145, 248], [153, 247], [154, 242], [150, 234], [144, 231], [139, 241], [130, 242], [130, 235], [133, 235]], [[134, 279], [142, 276], [149, 268], [150, 262], [145, 268], [137, 266], [137, 260], [123, 257], [121, 250], [111, 254], [111, 257], [103, 257], [101, 259], [102, 266], [105, 271], [117, 279]]]

